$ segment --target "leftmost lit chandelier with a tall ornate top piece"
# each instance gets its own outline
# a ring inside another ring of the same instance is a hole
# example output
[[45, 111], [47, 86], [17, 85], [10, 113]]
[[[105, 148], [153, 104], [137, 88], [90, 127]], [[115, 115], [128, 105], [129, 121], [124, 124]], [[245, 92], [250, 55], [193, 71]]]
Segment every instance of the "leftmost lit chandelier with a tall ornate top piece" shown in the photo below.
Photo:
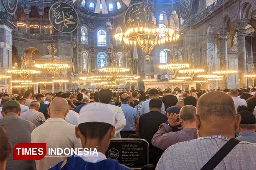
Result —
[[22, 60], [22, 65], [21, 65], [20, 70], [8, 70], [7, 72], [13, 73], [13, 74], [19, 74], [21, 80], [26, 80], [29, 77], [29, 75], [31, 75], [31, 74], [39, 74], [40, 73], [40, 71], [28, 69], [28, 66], [26, 64], [26, 62], [28, 61], [28, 56], [26, 53], [22, 54], [21, 60]]

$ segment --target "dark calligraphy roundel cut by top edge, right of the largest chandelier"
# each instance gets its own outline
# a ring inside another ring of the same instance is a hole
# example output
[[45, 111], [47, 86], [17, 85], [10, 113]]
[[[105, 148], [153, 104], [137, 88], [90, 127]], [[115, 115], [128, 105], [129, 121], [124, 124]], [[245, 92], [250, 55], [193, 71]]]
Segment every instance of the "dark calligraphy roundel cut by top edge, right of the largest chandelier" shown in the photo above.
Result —
[[192, 9], [192, 4], [193, 0], [179, 0], [179, 10], [183, 20], [188, 19]]

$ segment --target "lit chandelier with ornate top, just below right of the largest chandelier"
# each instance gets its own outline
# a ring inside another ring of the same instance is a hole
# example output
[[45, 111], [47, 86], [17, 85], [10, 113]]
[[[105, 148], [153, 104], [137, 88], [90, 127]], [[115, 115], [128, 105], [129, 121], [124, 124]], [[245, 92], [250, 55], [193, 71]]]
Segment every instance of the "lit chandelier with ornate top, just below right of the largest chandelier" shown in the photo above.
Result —
[[176, 77], [176, 74], [181, 68], [188, 68], [188, 64], [179, 64], [178, 60], [175, 58], [177, 55], [177, 50], [175, 49], [176, 46], [172, 46], [172, 51], [170, 51], [172, 55], [172, 59], [170, 60], [170, 64], [167, 65], [161, 65], [159, 66], [160, 69], [169, 69], [172, 74], [174, 75], [174, 78]]

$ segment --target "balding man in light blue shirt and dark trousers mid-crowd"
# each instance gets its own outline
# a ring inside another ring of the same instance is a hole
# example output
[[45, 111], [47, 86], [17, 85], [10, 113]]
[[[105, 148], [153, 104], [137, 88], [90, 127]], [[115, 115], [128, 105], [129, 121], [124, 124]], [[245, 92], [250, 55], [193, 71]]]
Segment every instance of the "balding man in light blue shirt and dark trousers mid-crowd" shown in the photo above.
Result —
[[130, 98], [128, 94], [123, 94], [120, 100], [122, 104], [120, 108], [124, 112], [126, 119], [126, 125], [124, 129], [121, 130], [120, 134], [122, 138], [128, 138], [130, 134], [135, 134], [135, 128], [139, 119], [139, 114], [135, 108], [129, 106], [128, 103]]

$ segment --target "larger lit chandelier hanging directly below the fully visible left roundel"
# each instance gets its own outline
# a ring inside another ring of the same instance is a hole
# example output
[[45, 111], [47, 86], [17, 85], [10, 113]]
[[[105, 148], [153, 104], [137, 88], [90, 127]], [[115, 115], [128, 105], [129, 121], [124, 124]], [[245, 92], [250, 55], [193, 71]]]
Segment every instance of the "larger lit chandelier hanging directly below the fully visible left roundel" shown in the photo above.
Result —
[[52, 79], [54, 79], [54, 74], [59, 69], [67, 69], [67, 68], [70, 68], [70, 66], [68, 64], [56, 63], [56, 59], [54, 58], [54, 55], [57, 54], [57, 49], [55, 48], [54, 44], [51, 44], [50, 46], [48, 46], [48, 51], [49, 51], [49, 54], [52, 55], [52, 58], [49, 60], [50, 62], [45, 64], [35, 64], [34, 66], [39, 69], [47, 69], [49, 73], [52, 74]]

